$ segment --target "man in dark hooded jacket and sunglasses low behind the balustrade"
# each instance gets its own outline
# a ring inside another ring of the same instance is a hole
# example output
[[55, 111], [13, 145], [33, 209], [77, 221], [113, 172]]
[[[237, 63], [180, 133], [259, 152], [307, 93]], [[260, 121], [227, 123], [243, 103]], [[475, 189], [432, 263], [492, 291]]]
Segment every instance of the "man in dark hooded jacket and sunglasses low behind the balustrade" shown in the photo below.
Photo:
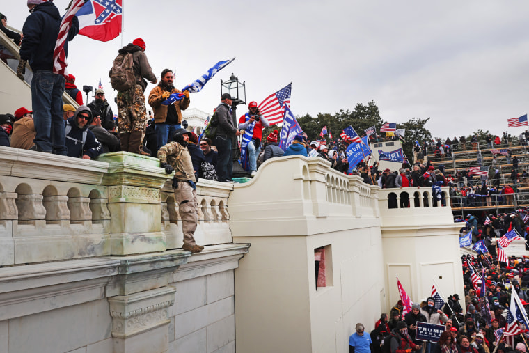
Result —
[[92, 123], [92, 120], [92, 111], [86, 105], [81, 105], [75, 111], [74, 116], [66, 120], [65, 135], [69, 157], [93, 159], [103, 151], [101, 143], [88, 130], [88, 125]]

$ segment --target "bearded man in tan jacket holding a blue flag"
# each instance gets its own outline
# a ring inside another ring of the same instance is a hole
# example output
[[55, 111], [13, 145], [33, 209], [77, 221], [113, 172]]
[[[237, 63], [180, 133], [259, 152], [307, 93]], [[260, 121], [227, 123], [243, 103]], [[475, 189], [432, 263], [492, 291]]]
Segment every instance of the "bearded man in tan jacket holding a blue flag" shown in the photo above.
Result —
[[172, 93], [182, 93], [173, 86], [174, 78], [173, 71], [164, 69], [160, 83], [149, 93], [149, 105], [155, 110], [157, 149], [167, 143], [168, 136], [173, 136], [175, 131], [182, 127], [182, 110], [189, 107], [189, 91], [183, 92], [185, 97], [182, 100], [169, 105], [161, 104]]

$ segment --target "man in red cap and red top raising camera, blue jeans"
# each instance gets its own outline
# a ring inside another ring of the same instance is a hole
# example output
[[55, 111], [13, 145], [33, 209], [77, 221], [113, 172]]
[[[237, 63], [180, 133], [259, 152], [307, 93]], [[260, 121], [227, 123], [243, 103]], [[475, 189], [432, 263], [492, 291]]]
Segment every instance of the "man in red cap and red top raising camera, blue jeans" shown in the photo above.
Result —
[[248, 104], [249, 111], [239, 118], [239, 129], [244, 130], [241, 144], [242, 167], [251, 171], [251, 176], [257, 173], [257, 156], [261, 150], [262, 127], [269, 127], [268, 120], [260, 114], [257, 102]]

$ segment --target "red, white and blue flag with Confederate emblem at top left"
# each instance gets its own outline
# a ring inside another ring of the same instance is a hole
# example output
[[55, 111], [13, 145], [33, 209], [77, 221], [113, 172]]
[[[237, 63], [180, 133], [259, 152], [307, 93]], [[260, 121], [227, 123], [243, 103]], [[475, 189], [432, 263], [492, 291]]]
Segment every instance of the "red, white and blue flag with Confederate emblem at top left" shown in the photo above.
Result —
[[121, 33], [123, 0], [88, 0], [77, 12], [79, 34], [108, 42]]

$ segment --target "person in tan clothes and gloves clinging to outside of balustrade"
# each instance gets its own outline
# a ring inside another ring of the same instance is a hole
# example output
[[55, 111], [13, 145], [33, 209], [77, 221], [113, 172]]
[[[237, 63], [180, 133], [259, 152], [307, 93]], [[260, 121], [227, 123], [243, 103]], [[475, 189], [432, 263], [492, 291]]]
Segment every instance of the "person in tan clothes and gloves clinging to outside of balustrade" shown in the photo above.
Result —
[[204, 246], [197, 245], [194, 237], [198, 221], [196, 210], [198, 202], [196, 201], [193, 162], [187, 150], [190, 137], [191, 132], [185, 129], [176, 130], [171, 138], [172, 141], [158, 150], [157, 157], [166, 173], [171, 174], [175, 171], [173, 190], [175, 202], [178, 204], [178, 213], [182, 219], [182, 232], [184, 233], [182, 249], [191, 251], [191, 253], [200, 253]]

